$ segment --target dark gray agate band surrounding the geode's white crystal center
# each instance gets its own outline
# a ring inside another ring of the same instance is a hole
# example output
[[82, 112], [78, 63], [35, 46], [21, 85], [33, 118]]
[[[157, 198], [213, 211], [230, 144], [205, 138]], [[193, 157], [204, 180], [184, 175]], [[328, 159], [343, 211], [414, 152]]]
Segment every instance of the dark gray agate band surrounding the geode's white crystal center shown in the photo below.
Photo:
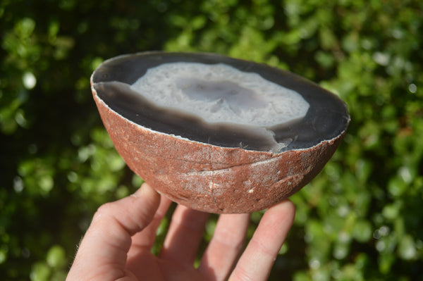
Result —
[[276, 142], [288, 140], [288, 146], [281, 151], [308, 149], [334, 139], [345, 132], [350, 122], [345, 103], [314, 82], [286, 70], [219, 54], [152, 51], [117, 56], [104, 61], [94, 71], [92, 88], [113, 111], [151, 130], [216, 146], [269, 151], [271, 144], [255, 134], [254, 127], [206, 124], [195, 115], [181, 115], [159, 108], [130, 89], [130, 85], [145, 75], [149, 68], [176, 62], [224, 63], [244, 72], [257, 73], [266, 80], [301, 94], [309, 103], [305, 117], [267, 128], [274, 132]]

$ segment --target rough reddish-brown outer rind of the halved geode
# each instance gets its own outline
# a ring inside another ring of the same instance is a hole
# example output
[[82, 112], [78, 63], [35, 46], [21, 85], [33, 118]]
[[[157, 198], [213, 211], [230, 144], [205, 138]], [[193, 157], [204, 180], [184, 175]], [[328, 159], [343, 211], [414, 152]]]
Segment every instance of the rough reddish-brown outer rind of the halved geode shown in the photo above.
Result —
[[337, 137], [278, 154], [157, 132], [112, 110], [92, 87], [104, 126], [129, 168], [172, 201], [209, 213], [251, 213], [298, 192], [324, 167]]

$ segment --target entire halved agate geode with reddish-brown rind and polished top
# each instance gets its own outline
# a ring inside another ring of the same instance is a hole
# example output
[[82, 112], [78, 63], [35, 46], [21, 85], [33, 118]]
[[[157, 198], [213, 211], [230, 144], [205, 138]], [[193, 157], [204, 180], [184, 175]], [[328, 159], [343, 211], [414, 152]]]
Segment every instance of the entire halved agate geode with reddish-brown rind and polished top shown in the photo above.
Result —
[[129, 168], [172, 201], [251, 213], [298, 192], [350, 122], [344, 102], [285, 70], [218, 54], [104, 61], [92, 94]]

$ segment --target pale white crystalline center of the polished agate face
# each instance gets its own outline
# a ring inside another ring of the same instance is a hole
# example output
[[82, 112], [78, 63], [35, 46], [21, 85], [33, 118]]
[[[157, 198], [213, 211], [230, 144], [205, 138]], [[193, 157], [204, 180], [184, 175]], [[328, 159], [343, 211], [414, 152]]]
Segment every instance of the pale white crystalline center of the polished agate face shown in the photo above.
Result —
[[157, 106], [207, 123], [270, 127], [303, 118], [309, 108], [298, 92], [223, 63], [164, 63], [131, 87]]

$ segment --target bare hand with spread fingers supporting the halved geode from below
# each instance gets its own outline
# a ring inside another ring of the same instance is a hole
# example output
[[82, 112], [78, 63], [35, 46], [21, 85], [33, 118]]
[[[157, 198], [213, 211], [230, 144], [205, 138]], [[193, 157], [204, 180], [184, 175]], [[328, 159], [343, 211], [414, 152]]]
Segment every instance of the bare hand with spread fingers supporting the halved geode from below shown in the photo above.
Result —
[[295, 216], [288, 200], [269, 208], [246, 247], [250, 215], [219, 216], [212, 241], [195, 268], [207, 213], [178, 205], [160, 254], [151, 252], [170, 204], [145, 183], [135, 194], [101, 206], [66, 280], [266, 280]]

